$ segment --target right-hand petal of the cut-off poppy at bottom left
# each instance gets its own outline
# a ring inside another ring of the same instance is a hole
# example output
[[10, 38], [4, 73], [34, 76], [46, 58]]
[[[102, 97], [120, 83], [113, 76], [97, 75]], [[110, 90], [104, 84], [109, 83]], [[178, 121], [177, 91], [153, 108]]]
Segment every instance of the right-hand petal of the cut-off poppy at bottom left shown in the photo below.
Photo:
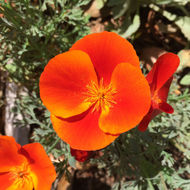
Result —
[[55, 168], [40, 143], [24, 145], [21, 153], [28, 158], [35, 190], [51, 189], [56, 179]]

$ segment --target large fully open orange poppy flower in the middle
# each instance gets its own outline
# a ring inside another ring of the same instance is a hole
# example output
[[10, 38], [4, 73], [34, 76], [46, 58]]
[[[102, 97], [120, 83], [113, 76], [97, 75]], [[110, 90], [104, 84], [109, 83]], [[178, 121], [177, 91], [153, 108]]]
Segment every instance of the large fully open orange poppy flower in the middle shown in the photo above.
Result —
[[87, 35], [52, 58], [40, 77], [40, 96], [60, 138], [86, 151], [134, 128], [151, 100], [133, 46], [113, 32]]

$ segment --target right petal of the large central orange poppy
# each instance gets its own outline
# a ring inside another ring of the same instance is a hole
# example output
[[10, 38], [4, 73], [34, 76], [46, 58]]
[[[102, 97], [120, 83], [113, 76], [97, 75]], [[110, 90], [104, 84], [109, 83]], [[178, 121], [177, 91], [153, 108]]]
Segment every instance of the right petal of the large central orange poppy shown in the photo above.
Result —
[[150, 88], [139, 68], [128, 63], [116, 66], [111, 84], [116, 104], [102, 110], [99, 125], [105, 133], [120, 134], [134, 128], [149, 111]]

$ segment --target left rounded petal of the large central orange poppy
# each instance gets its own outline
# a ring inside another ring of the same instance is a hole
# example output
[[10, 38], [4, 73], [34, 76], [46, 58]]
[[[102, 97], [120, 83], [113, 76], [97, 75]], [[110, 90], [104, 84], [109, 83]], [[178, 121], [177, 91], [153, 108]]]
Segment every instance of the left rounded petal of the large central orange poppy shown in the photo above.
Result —
[[86, 111], [84, 102], [89, 82], [97, 76], [89, 56], [82, 51], [69, 51], [49, 61], [40, 77], [40, 96], [47, 109], [67, 118]]

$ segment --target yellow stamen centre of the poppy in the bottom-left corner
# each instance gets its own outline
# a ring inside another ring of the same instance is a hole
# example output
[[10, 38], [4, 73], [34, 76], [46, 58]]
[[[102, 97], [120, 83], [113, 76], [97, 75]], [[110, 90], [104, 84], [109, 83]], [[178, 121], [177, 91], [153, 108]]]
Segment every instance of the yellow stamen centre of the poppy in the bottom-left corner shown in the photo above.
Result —
[[10, 175], [12, 180], [14, 180], [14, 185], [19, 188], [33, 189], [33, 181], [31, 177], [31, 171], [29, 166], [24, 163], [21, 166], [16, 166], [11, 168]]

